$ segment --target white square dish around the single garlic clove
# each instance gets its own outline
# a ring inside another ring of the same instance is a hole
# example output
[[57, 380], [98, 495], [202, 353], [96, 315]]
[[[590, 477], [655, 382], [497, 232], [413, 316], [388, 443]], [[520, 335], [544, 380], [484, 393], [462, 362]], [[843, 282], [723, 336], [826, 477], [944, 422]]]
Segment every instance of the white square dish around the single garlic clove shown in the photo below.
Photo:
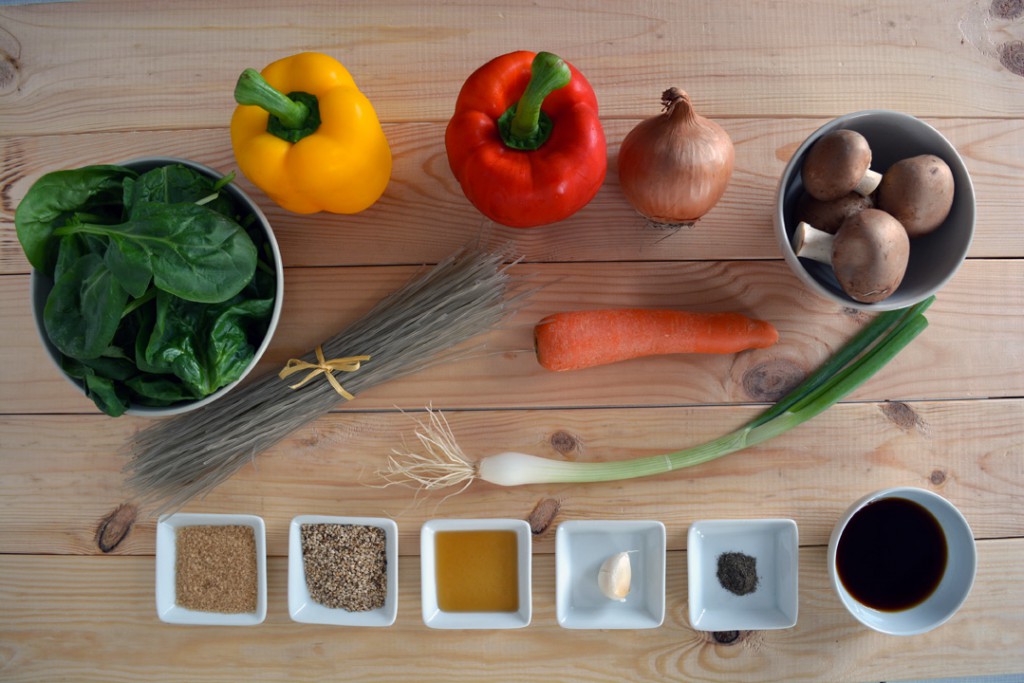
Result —
[[[598, 571], [629, 553], [632, 581], [625, 601], [609, 599]], [[665, 621], [665, 524], [658, 521], [562, 522], [555, 540], [558, 624], [565, 629], [654, 629]]]

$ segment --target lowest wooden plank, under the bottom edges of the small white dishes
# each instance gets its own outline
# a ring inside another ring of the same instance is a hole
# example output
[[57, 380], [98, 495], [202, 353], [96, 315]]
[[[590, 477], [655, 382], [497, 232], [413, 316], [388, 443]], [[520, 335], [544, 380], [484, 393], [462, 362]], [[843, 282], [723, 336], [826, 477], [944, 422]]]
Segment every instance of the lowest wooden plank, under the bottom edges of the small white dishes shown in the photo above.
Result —
[[[844, 681], [984, 675], [1024, 669], [1024, 541], [978, 544], [974, 590], [961, 611], [912, 638], [860, 626], [828, 586], [824, 548], [800, 553], [800, 620], [741, 632], [732, 644], [693, 631], [686, 555], [668, 557], [665, 624], [646, 631], [567, 631], [555, 618], [554, 562], [534, 561], [534, 620], [515, 631], [443, 632], [423, 626], [419, 562], [402, 557], [398, 618], [386, 629], [292, 623], [284, 558], [268, 562], [268, 616], [252, 628], [158, 621], [152, 557], [0, 556], [0, 671], [4, 680], [549, 681], [551, 663], [574, 681]], [[40, 590], [45, 586], [45, 590]], [[1015, 608], [1016, 607], [1016, 608]], [[95, 625], [103, 624], [102, 637]], [[999, 656], [992, 656], [992, 642]], [[566, 652], [571, 656], [566, 658]], [[184, 653], [187, 653], [185, 656]], [[451, 667], [458, 657], [459, 666]]]

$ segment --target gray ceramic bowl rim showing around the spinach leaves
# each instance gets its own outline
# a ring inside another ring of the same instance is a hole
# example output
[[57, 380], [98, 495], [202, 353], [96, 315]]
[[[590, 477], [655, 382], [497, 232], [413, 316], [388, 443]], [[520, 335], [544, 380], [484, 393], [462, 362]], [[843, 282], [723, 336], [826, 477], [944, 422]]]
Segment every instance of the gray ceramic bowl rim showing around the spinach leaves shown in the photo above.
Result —
[[[205, 166], [198, 162], [189, 161], [187, 159], [179, 159], [176, 157], [139, 157], [137, 159], [132, 159], [130, 161], [121, 162], [119, 166], [127, 166], [129, 168], [159, 168], [161, 166], [170, 166], [172, 164], [181, 164], [182, 166], [187, 166], [200, 173], [208, 175], [215, 179], [220, 179], [224, 177], [223, 173], [216, 171], [209, 166]], [[236, 199], [238, 199], [242, 204], [248, 207], [253, 215], [256, 216], [256, 220], [263, 227], [263, 231], [266, 233], [267, 244], [270, 246], [270, 251], [273, 254], [273, 266], [274, 273], [276, 275], [276, 291], [274, 292], [273, 310], [270, 313], [270, 321], [267, 325], [266, 334], [263, 336], [263, 341], [256, 348], [256, 352], [253, 355], [253, 359], [249, 362], [246, 369], [243, 371], [242, 376], [234, 380], [230, 384], [226, 384], [221, 388], [217, 389], [208, 396], [204, 396], [199, 400], [191, 401], [180, 401], [166, 407], [150, 407], [150, 405], [131, 405], [125, 411], [126, 415], [135, 415], [142, 417], [169, 417], [172, 415], [179, 415], [181, 413], [187, 413], [189, 411], [197, 410], [203, 405], [212, 403], [216, 399], [220, 398], [228, 391], [233, 389], [239, 383], [244, 380], [249, 373], [256, 367], [259, 359], [263, 356], [263, 353], [270, 345], [270, 340], [273, 337], [274, 332], [278, 329], [278, 322], [281, 319], [281, 308], [285, 301], [285, 268], [281, 260], [281, 250], [278, 247], [278, 240], [274, 238], [273, 229], [270, 227], [270, 221], [266, 219], [266, 215], [259, 208], [259, 206], [252, 201], [252, 199], [234, 182], [230, 182], [224, 186], [225, 191], [230, 193]], [[39, 334], [40, 340], [43, 342], [43, 347], [46, 350], [46, 355], [50, 359], [50, 362], [60, 376], [68, 380], [75, 388], [77, 388], [82, 393], [85, 393], [85, 389], [82, 384], [70, 377], [60, 368], [59, 352], [50, 342], [49, 337], [46, 335], [46, 329], [43, 326], [42, 310], [41, 306], [37, 305], [40, 301], [45, 301], [45, 294], [49, 292], [53, 284], [49, 282], [49, 278], [36, 271], [35, 268], [32, 269], [30, 274], [30, 291], [32, 297], [32, 318], [36, 326], [36, 332]]]

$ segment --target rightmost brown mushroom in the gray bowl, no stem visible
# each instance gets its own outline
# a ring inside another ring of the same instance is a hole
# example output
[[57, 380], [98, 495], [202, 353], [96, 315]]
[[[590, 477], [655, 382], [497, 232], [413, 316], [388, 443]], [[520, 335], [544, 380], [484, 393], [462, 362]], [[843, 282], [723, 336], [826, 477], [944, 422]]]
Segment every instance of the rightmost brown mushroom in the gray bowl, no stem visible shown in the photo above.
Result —
[[953, 173], [935, 155], [902, 159], [885, 172], [879, 185], [879, 208], [920, 238], [935, 230], [953, 205]]

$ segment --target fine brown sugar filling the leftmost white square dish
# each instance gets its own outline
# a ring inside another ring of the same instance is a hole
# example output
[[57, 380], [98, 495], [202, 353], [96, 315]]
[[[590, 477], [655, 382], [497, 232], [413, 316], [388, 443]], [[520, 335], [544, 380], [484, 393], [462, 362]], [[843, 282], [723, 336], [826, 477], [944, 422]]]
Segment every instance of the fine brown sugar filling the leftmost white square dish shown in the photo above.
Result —
[[182, 526], [175, 533], [177, 604], [198, 611], [256, 611], [256, 533], [251, 526]]

